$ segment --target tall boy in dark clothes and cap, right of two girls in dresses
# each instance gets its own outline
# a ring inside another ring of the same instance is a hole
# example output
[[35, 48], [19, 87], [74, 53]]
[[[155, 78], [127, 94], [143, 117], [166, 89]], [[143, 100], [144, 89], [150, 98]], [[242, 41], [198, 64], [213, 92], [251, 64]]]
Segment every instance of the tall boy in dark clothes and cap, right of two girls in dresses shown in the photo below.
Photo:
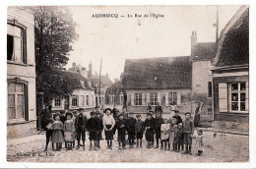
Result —
[[75, 128], [76, 128], [77, 141], [78, 141], [77, 149], [80, 149], [80, 140], [81, 140], [81, 136], [82, 136], [83, 150], [85, 150], [86, 149], [86, 147], [85, 147], [86, 126], [87, 126], [88, 119], [83, 113], [84, 113], [84, 109], [80, 108], [79, 115], [76, 117], [76, 120], [75, 120]]

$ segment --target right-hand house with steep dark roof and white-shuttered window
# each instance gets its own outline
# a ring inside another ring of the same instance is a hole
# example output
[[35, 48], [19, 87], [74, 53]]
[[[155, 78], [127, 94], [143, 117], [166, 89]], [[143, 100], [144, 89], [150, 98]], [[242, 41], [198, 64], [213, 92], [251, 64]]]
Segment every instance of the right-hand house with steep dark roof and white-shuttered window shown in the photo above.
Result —
[[213, 61], [214, 120], [249, 122], [249, 9], [222, 30]]

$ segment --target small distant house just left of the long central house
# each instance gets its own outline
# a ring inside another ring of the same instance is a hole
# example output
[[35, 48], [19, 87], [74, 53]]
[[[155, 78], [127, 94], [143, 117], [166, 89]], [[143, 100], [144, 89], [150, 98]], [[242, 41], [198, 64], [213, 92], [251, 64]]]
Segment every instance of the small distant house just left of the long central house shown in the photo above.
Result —
[[115, 80], [114, 84], [107, 87], [105, 92], [105, 104], [123, 105], [125, 91], [120, 81]]

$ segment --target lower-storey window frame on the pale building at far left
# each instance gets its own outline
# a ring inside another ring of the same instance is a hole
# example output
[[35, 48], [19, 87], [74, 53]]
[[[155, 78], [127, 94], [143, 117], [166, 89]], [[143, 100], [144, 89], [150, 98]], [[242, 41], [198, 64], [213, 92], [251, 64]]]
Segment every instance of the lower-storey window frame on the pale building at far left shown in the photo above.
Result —
[[[7, 96], [9, 96], [9, 88], [8, 88], [8, 84], [23, 84], [24, 87], [24, 91], [23, 91], [23, 95], [24, 95], [24, 118], [22, 119], [9, 119], [9, 105], [8, 105], [8, 101], [7, 101], [7, 122], [9, 124], [12, 123], [19, 123], [19, 122], [26, 122], [29, 121], [29, 82], [21, 80], [20, 78], [15, 78], [15, 79], [8, 79], [7, 80]], [[16, 96], [15, 96], [16, 97]], [[16, 99], [17, 100], [17, 99]], [[17, 104], [15, 104], [15, 107], [17, 106]], [[17, 112], [16, 112], [16, 117], [17, 117]]]

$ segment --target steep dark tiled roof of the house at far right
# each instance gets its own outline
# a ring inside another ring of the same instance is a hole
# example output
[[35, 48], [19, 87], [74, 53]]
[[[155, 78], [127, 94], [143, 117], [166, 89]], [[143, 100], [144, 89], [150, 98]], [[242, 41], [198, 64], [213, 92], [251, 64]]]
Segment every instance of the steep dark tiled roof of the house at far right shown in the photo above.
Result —
[[249, 9], [241, 7], [222, 30], [215, 67], [249, 64]]

